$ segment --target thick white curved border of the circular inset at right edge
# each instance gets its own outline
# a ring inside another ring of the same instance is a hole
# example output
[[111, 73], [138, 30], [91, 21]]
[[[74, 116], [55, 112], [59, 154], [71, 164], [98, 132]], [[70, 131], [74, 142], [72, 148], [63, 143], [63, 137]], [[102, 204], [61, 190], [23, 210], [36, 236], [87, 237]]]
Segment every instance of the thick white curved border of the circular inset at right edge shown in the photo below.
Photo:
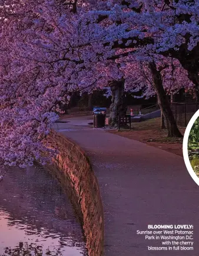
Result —
[[188, 172], [190, 173], [194, 182], [197, 183], [199, 186], [199, 178], [195, 174], [193, 168], [191, 167], [190, 159], [188, 157], [188, 137], [190, 135], [191, 128], [193, 127], [193, 124], [194, 124], [195, 120], [198, 118], [198, 116], [199, 116], [199, 110], [197, 112], [195, 112], [195, 114], [192, 116], [192, 118], [191, 118], [190, 122], [188, 123], [187, 128], [185, 130], [184, 139], [183, 139], [183, 156], [184, 156], [184, 162], [185, 162]]

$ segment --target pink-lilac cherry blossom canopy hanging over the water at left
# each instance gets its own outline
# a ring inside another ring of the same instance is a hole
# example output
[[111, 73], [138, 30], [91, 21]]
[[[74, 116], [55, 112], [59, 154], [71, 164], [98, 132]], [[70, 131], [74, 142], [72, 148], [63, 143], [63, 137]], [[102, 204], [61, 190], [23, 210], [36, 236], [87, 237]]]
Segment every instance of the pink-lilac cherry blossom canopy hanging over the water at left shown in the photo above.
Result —
[[75, 15], [58, 1], [1, 4], [1, 166], [44, 164], [53, 153], [43, 141], [58, 104], [71, 90], [107, 83], [98, 63], [111, 47], [98, 43], [104, 31], [89, 23], [84, 8]]

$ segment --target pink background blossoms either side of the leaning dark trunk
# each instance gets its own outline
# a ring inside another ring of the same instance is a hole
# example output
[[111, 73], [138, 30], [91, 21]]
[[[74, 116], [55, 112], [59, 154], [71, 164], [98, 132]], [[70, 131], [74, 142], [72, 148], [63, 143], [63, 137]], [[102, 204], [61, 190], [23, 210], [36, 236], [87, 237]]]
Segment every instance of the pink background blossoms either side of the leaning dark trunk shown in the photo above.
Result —
[[[188, 79], [188, 73], [176, 59], [157, 56], [155, 60], [158, 71], [161, 72], [162, 83], [167, 95], [175, 95], [180, 89], [193, 89], [193, 82]], [[129, 61], [122, 67], [125, 73], [125, 90], [142, 92], [141, 98], [155, 95], [155, 85], [147, 61]]]

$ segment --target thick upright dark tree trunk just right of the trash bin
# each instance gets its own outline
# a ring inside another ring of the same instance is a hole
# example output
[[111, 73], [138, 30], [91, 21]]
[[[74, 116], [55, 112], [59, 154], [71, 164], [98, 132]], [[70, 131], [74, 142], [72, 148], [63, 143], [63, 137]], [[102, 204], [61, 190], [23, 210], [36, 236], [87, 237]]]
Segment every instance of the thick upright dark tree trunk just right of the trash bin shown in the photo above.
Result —
[[112, 103], [110, 106], [110, 125], [118, 125], [118, 116], [125, 115], [127, 106], [124, 98], [124, 82], [125, 80], [113, 81], [110, 85], [112, 92]]

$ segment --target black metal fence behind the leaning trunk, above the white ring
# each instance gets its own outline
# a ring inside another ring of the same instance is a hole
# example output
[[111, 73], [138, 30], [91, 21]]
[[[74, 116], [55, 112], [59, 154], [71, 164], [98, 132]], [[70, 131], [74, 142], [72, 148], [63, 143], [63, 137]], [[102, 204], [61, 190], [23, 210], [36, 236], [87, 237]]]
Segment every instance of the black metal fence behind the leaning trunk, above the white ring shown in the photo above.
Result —
[[199, 109], [199, 102], [172, 102], [171, 109], [180, 127], [186, 127], [191, 117]]

